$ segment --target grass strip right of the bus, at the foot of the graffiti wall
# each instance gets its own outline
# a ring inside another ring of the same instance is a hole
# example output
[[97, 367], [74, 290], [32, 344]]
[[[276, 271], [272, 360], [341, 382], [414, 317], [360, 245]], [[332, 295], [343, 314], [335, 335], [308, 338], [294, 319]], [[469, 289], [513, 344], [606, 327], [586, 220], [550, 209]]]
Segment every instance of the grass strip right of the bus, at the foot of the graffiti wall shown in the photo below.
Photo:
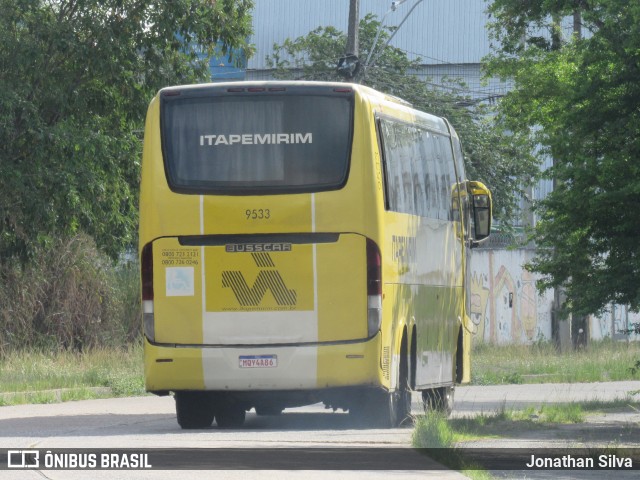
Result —
[[578, 383], [640, 379], [640, 342], [592, 342], [560, 353], [551, 343], [493, 346], [471, 353], [473, 385]]

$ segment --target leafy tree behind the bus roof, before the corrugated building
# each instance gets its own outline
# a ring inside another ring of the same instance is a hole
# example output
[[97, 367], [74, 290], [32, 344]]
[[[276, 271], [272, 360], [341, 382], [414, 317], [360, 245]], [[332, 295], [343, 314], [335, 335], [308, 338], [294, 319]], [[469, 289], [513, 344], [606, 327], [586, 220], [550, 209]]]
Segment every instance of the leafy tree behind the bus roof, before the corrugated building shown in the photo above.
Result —
[[[360, 21], [360, 55], [369, 55], [380, 22], [373, 15]], [[528, 153], [528, 135], [507, 134], [496, 128], [489, 107], [456, 92], [464, 85], [455, 80], [446, 88], [437, 88], [421, 81], [410, 72], [420, 65], [410, 60], [402, 50], [383, 48], [395, 27], [384, 27], [372, 55], [373, 66], [364, 69], [361, 83], [384, 93], [400, 97], [423, 110], [446, 117], [460, 135], [466, 156], [467, 176], [486, 183], [494, 196], [494, 215], [508, 223], [514, 219], [519, 196], [537, 172], [537, 165]], [[334, 27], [319, 27], [295, 40], [287, 39], [274, 45], [274, 54], [267, 57], [275, 75], [282, 79], [343, 81], [336, 65], [344, 54], [346, 36]]]

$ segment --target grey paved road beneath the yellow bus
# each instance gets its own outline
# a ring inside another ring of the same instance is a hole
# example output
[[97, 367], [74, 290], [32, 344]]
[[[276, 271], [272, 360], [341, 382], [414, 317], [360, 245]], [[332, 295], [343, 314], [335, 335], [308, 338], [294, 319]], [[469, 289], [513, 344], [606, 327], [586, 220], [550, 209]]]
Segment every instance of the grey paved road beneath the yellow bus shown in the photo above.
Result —
[[[460, 387], [456, 391], [455, 415], [495, 412], [501, 407], [519, 407], [545, 402], [572, 400], [611, 400], [625, 398], [640, 390], [640, 382], [593, 384], [543, 384], [486, 387]], [[420, 412], [414, 398], [413, 410]], [[356, 429], [347, 414], [326, 411], [321, 405], [290, 409], [280, 417], [247, 415], [240, 430], [182, 431], [175, 421], [170, 397], [137, 397], [88, 400], [53, 405], [0, 407], [0, 448], [406, 448], [412, 430]], [[9, 479], [81, 479], [87, 472], [1, 472]], [[178, 472], [91, 472], [95, 479], [173, 478]], [[9, 475], [10, 474], [10, 475]], [[301, 472], [283, 471], [185, 471], [181, 480], [200, 478], [276, 479], [300, 478]], [[304, 477], [316, 478], [445, 478], [462, 479], [457, 472], [327, 472], [305, 471]]]

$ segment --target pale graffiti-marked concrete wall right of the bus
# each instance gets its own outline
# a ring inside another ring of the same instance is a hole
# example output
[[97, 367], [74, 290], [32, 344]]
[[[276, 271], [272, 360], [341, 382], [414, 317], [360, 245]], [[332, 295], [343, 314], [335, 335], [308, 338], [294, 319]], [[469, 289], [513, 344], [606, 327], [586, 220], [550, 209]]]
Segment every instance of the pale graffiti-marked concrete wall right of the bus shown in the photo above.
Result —
[[[536, 276], [527, 272], [523, 265], [534, 256], [531, 249], [474, 249], [471, 258], [471, 320], [476, 335], [474, 342], [508, 344], [533, 343], [552, 340], [552, 309], [554, 292], [539, 293]], [[612, 305], [600, 316], [589, 316], [583, 330], [586, 340], [640, 341], [640, 335], [625, 335], [640, 322], [640, 314], [628, 308]], [[578, 327], [575, 326], [577, 330]], [[571, 329], [560, 329], [569, 335]], [[557, 334], [556, 334], [557, 335]], [[573, 332], [573, 341], [578, 331]]]

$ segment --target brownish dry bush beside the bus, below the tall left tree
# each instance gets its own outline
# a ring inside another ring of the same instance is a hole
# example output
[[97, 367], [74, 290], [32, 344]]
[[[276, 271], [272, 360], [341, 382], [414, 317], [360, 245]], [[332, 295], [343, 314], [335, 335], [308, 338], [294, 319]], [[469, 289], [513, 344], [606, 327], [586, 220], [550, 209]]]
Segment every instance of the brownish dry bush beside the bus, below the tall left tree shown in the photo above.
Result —
[[0, 268], [0, 357], [26, 349], [84, 350], [139, 338], [135, 265], [114, 266], [85, 234]]

